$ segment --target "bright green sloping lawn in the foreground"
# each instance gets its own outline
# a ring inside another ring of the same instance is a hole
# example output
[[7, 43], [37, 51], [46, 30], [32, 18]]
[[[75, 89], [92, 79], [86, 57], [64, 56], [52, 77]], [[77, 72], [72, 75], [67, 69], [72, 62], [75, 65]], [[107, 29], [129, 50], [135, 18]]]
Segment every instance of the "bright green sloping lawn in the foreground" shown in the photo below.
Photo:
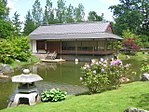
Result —
[[149, 110], [149, 82], [122, 84], [100, 94], [69, 96], [55, 103], [20, 105], [0, 112], [123, 112], [127, 107]]

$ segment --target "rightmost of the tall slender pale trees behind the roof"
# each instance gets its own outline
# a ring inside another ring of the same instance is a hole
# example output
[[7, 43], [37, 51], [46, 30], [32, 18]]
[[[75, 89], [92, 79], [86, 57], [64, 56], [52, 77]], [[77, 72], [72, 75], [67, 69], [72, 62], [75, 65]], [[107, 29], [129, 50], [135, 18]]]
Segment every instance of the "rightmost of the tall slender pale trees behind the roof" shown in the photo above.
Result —
[[82, 22], [84, 19], [84, 6], [82, 4], [79, 4], [78, 7], [75, 8], [75, 21], [76, 22]]

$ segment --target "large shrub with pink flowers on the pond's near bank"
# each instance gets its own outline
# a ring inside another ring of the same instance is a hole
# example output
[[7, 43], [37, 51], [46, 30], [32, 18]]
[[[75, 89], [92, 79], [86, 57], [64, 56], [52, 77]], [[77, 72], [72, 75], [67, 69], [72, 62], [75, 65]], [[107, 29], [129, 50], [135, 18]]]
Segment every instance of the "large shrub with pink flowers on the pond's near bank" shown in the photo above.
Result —
[[123, 65], [119, 59], [113, 61], [101, 59], [99, 62], [82, 66], [83, 76], [80, 80], [88, 87], [90, 93], [97, 93], [119, 87], [120, 78], [130, 70], [130, 64]]

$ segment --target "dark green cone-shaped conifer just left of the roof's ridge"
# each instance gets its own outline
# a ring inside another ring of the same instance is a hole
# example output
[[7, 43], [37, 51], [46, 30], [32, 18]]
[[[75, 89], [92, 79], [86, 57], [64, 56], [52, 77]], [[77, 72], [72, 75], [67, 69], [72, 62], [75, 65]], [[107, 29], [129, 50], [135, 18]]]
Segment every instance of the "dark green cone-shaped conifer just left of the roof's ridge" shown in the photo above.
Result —
[[33, 30], [37, 28], [36, 23], [33, 21], [30, 11], [27, 12], [24, 24], [24, 35], [29, 35]]

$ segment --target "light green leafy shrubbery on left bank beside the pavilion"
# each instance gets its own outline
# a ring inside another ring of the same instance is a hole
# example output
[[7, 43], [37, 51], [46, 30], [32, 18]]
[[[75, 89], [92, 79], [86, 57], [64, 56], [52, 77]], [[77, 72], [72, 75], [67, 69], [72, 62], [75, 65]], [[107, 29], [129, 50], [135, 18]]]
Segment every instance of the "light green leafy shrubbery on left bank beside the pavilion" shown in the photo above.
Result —
[[0, 62], [11, 64], [14, 60], [27, 61], [30, 57], [27, 37], [9, 37], [0, 40]]

